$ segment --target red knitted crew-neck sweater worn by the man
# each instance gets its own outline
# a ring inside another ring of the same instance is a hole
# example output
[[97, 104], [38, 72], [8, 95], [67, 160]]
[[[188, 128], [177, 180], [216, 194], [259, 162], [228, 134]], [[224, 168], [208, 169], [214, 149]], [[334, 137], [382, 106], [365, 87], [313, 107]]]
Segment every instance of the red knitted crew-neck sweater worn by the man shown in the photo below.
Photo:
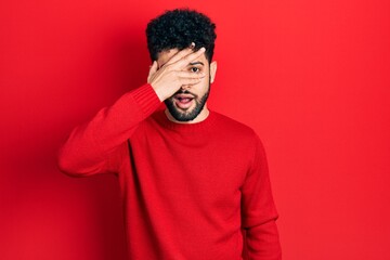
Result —
[[217, 112], [170, 121], [151, 84], [77, 127], [60, 152], [72, 176], [113, 172], [130, 260], [280, 260], [266, 159], [257, 134]]

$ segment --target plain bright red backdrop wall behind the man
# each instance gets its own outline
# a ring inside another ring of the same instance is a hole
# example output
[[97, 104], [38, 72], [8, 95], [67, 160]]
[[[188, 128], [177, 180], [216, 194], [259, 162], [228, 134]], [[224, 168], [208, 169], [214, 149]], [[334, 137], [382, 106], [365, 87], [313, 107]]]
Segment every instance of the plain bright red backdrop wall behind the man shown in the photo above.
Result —
[[284, 259], [390, 259], [387, 0], [1, 1], [0, 258], [125, 259], [117, 180], [55, 153], [145, 81], [146, 23], [176, 6], [218, 25], [210, 107], [265, 145]]

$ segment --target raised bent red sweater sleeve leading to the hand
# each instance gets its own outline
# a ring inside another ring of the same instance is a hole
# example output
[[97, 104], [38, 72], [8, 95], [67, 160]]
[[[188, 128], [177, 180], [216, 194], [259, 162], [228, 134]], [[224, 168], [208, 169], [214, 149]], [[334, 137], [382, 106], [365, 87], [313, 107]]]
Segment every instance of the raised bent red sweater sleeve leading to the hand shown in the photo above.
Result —
[[70, 176], [110, 171], [110, 155], [126, 142], [141, 121], [160, 105], [146, 83], [104, 107], [87, 123], [76, 127], [58, 153], [58, 167]]

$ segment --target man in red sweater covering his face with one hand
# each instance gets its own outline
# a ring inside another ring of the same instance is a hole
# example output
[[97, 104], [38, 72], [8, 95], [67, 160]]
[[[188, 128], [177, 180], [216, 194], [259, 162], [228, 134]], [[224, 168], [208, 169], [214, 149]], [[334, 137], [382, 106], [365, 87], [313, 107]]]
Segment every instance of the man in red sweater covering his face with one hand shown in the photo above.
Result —
[[214, 28], [191, 10], [151, 21], [147, 83], [76, 128], [61, 150], [69, 174], [118, 176], [131, 260], [281, 259], [263, 146], [207, 107]]

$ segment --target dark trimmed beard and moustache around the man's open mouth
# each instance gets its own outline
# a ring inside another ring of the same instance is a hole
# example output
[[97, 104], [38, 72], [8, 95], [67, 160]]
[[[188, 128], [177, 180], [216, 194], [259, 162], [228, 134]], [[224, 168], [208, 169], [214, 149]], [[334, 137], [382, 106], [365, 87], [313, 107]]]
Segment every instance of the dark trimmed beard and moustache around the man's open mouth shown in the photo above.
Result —
[[169, 98], [168, 100], [165, 100], [164, 103], [166, 104], [169, 113], [172, 115], [172, 117], [178, 120], [178, 121], [192, 121], [194, 120], [199, 113], [203, 110], [203, 108], [205, 107], [206, 101], [209, 96], [210, 93], [210, 84], [208, 87], [207, 92], [200, 98], [198, 99], [197, 95], [194, 95], [194, 101], [195, 101], [195, 107], [191, 110], [191, 112], [181, 112], [179, 110], [179, 108], [177, 108], [174, 106], [174, 95], [176, 94], [192, 94], [190, 91], [187, 90], [179, 90], [178, 92], [176, 92], [171, 98]]

